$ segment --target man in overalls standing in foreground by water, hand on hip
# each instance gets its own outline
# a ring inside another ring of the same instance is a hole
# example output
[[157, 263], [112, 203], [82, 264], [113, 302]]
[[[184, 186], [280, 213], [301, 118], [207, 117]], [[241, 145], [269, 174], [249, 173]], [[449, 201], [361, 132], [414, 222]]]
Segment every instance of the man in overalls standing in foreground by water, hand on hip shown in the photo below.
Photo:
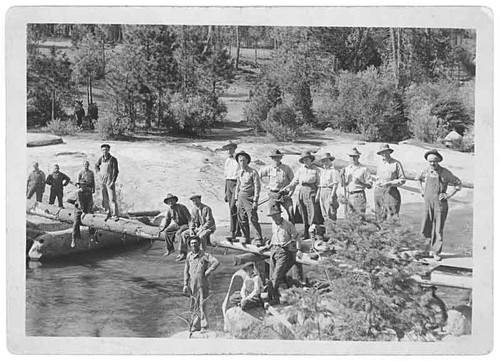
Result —
[[184, 287], [182, 292], [190, 297], [190, 309], [193, 313], [190, 332], [206, 331], [208, 329], [207, 298], [209, 295], [208, 277], [219, 267], [217, 258], [205, 253], [200, 248], [200, 239], [192, 237], [189, 240], [191, 252], [184, 264]]

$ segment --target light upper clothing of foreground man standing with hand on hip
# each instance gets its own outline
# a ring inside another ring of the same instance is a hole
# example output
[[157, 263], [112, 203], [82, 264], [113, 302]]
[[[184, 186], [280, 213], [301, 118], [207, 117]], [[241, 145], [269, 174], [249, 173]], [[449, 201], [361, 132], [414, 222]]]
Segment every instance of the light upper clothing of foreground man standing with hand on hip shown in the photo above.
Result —
[[189, 286], [192, 293], [196, 293], [200, 288], [207, 292], [208, 277], [205, 276], [205, 272], [214, 271], [219, 264], [217, 258], [201, 249], [198, 253], [189, 252], [184, 264], [184, 286]]

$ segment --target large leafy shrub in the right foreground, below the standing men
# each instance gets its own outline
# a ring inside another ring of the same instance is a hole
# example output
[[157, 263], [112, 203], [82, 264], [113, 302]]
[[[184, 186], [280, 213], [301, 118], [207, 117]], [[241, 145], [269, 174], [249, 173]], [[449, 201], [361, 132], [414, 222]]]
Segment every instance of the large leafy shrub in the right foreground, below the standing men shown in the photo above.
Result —
[[[350, 219], [330, 223], [336, 253], [314, 270], [315, 287], [283, 291], [296, 317], [296, 333], [307, 339], [401, 339], [431, 332], [433, 314], [424, 290], [411, 276], [422, 272], [415, 260], [425, 244], [409, 228]], [[392, 335], [392, 336], [391, 336]]]

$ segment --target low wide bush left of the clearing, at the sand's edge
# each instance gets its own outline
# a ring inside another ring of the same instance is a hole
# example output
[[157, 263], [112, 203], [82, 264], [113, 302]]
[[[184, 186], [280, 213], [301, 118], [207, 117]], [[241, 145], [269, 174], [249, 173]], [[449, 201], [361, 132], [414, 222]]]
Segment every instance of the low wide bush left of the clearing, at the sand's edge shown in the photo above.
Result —
[[170, 112], [176, 130], [188, 134], [202, 134], [215, 122], [224, 120], [227, 108], [218, 99], [200, 95], [183, 97], [177, 93], [172, 97]]

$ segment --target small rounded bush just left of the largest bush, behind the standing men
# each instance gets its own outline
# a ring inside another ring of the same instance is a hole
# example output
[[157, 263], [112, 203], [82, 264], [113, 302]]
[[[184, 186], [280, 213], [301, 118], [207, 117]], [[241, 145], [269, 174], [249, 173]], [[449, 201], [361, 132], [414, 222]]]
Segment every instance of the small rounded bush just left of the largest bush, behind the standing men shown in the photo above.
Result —
[[264, 130], [280, 141], [296, 140], [301, 133], [302, 121], [295, 110], [287, 105], [271, 108], [263, 123]]

